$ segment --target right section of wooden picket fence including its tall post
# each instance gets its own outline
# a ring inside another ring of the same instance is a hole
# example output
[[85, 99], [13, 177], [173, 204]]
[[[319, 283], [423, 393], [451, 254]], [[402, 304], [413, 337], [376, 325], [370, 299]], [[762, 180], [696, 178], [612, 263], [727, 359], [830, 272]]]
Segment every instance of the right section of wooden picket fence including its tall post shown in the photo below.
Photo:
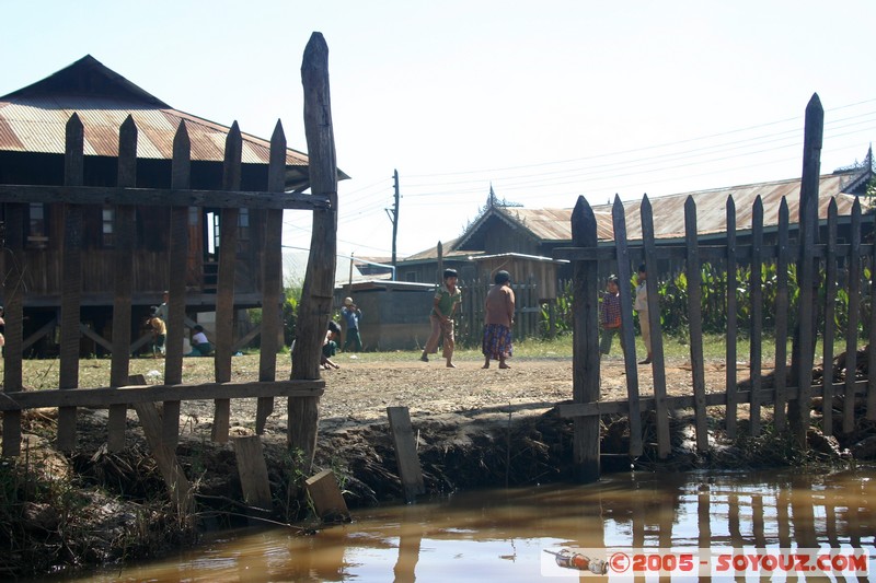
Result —
[[[750, 432], [758, 435], [762, 431], [762, 408], [772, 406], [773, 422], [779, 431], [789, 427], [802, 446], [806, 445], [806, 430], [809, 428], [810, 403], [814, 396], [823, 396], [823, 428], [831, 434], [833, 425], [833, 397], [865, 394], [866, 418], [876, 419], [876, 377], [856, 381], [854, 372], [845, 375], [840, 384], [832, 383], [830, 372], [826, 374], [822, 386], [812, 386], [812, 369], [815, 347], [818, 336], [816, 330], [816, 302], [823, 299], [828, 315], [821, 334], [823, 343], [823, 361], [826, 370], [832, 370], [834, 355], [833, 304], [838, 281], [848, 282], [850, 296], [845, 342], [841, 350], [845, 352], [845, 368], [856, 370], [857, 329], [861, 323], [861, 296], [865, 293], [862, 282], [862, 261], [876, 265], [876, 245], [862, 242], [862, 211], [858, 200], [855, 201], [851, 221], [851, 240], [839, 244], [835, 237], [838, 212], [835, 201], [831, 201], [827, 226], [828, 241], [818, 243], [818, 155], [821, 149], [819, 128], [823, 124], [823, 113], [817, 96], [807, 108], [807, 144], [805, 148], [804, 174], [800, 188], [799, 223], [797, 240], [789, 237], [788, 205], [783, 199], [779, 211], [779, 236], [774, 245], [763, 243], [763, 205], [758, 197], [752, 208], [752, 228], [750, 243], [736, 243], [736, 207], [733, 198], [726, 200], [727, 240], [721, 245], [702, 245], [698, 241], [696, 207], [693, 198], [684, 206], [685, 237], [682, 245], [660, 245], [655, 243], [654, 220], [647, 196], [641, 206], [643, 240], [631, 245], [626, 240], [626, 223], [623, 205], [618, 198], [614, 201], [612, 217], [614, 226], [614, 246], [597, 247], [596, 219], [592, 209], [580, 197], [572, 215], [572, 248], [556, 249], [556, 255], [574, 261], [574, 380], [573, 404], [562, 405], [562, 416], [575, 420], [575, 463], [577, 478], [591, 481], [599, 477], [599, 417], [607, 413], [625, 413], [630, 419], [630, 455], [643, 453], [642, 419], [644, 410], [656, 411], [657, 452], [660, 458], [670, 453], [669, 411], [679, 408], [692, 408], [695, 413], [696, 446], [701, 452], [708, 448], [708, 428], [706, 408], [723, 406], [725, 408], [725, 429], [729, 438], [737, 433], [739, 406], [748, 406]], [[664, 365], [662, 335], [660, 333], [660, 312], [657, 299], [655, 278], [647, 279], [648, 316], [652, 328], [654, 395], [642, 396], [638, 387], [638, 369], [636, 366], [635, 343], [633, 339], [633, 313], [631, 266], [633, 258], [644, 258], [646, 265], [656, 265], [657, 258], [671, 258], [685, 266], [689, 284], [689, 320], [690, 320], [690, 361], [691, 394], [683, 396], [667, 395], [666, 371]], [[624, 368], [627, 387], [627, 399], [623, 401], [600, 401], [599, 378], [599, 328], [598, 328], [598, 273], [600, 261], [616, 261], [621, 288], [621, 323], [624, 338]], [[723, 261], [727, 267], [726, 306], [729, 314], [736, 313], [737, 284], [747, 284], [751, 296], [752, 312], [750, 317], [750, 354], [749, 378], [747, 389], [739, 388], [737, 378], [737, 322], [727, 318], [726, 380], [724, 387], [717, 392], [706, 392], [704, 378], [703, 335], [701, 314], [701, 278], [700, 268], [703, 261]], [[763, 386], [762, 354], [762, 288], [760, 279], [761, 266], [768, 261], [777, 265], [777, 301], [775, 306], [775, 369], [771, 387]], [[839, 273], [838, 265], [842, 263], [844, 273]], [[788, 266], [797, 266], [799, 284], [798, 313], [793, 322], [795, 330], [788, 330]], [[735, 281], [736, 266], [750, 266], [750, 280]], [[818, 273], [823, 272], [823, 281]], [[869, 296], [876, 305], [876, 278], [869, 283]], [[869, 313], [869, 351], [867, 363], [869, 370], [876, 370], [876, 311]], [[789, 334], [793, 336], [792, 359], [788, 364], [786, 346]], [[842, 427], [851, 432], [855, 419], [855, 399], [844, 398], [842, 409]]]

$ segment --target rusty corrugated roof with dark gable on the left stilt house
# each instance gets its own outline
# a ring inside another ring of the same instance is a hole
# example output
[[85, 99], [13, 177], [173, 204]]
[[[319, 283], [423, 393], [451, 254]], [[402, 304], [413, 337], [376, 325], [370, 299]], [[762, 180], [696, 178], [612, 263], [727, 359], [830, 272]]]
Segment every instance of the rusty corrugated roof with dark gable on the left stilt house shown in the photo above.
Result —
[[[137, 155], [171, 160], [173, 138], [185, 123], [192, 160], [221, 162], [229, 127], [172, 108], [91, 56], [32, 85], [0, 97], [0, 150], [62, 154], [65, 128], [76, 113], [84, 126], [85, 155], [116, 156], [118, 128], [130, 115]], [[241, 133], [244, 164], [267, 164], [270, 142]], [[286, 152], [287, 186], [307, 177], [308, 156]], [[289, 171], [292, 171], [291, 173]], [[348, 178], [338, 171], [338, 178]]]

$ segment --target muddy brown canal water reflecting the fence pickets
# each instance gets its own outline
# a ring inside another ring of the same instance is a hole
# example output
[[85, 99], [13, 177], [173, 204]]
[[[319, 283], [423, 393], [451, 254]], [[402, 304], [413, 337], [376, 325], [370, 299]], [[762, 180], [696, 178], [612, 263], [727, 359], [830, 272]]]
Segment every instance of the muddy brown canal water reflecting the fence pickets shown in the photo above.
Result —
[[359, 510], [353, 524], [310, 537], [223, 533], [196, 551], [77, 581], [578, 581], [555, 573], [545, 552], [563, 548], [854, 547], [868, 550], [876, 573], [874, 534], [876, 469], [623, 474]]

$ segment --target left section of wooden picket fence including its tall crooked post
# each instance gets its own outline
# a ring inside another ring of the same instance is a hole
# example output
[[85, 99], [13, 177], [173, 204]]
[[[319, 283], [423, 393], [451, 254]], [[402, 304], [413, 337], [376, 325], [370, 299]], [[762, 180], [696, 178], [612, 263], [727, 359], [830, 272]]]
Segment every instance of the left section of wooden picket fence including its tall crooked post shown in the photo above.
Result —
[[[276, 378], [276, 358], [281, 304], [281, 232], [284, 209], [302, 209], [312, 212], [336, 212], [336, 165], [333, 155], [325, 164], [322, 153], [333, 152], [334, 143], [311, 143], [311, 126], [316, 121], [307, 119], [308, 110], [326, 112], [327, 100], [327, 48], [322, 35], [314, 33], [306, 51], [302, 70], [315, 70], [303, 79], [306, 89], [306, 121], [309, 130], [311, 151], [320, 154], [311, 156], [311, 195], [284, 193], [286, 173], [286, 138], [283, 127], [277, 123], [270, 140], [270, 162], [268, 164], [268, 189], [263, 193], [241, 191], [242, 138], [237, 123], [231, 127], [226, 141], [222, 190], [192, 190], [191, 142], [184, 123], [181, 123], [173, 143], [172, 186], [170, 189], [135, 188], [137, 167], [137, 127], [128, 116], [119, 130], [118, 185], [116, 188], [83, 186], [84, 176], [84, 128], [77, 114], [67, 124], [65, 147], [65, 185], [25, 186], [0, 185], [0, 202], [7, 205], [5, 242], [9, 254], [22, 256], [24, 245], [24, 215], [30, 201], [64, 203], [66, 238], [62, 246], [64, 292], [61, 298], [59, 388], [55, 390], [24, 390], [22, 384], [22, 306], [26, 290], [21, 284], [22, 271], [26, 266], [10, 268], [5, 273], [5, 358], [3, 370], [3, 393], [0, 395], [0, 411], [3, 418], [2, 455], [18, 456], [21, 453], [22, 411], [35, 407], [58, 407], [57, 447], [72, 451], [77, 442], [77, 408], [108, 408], [107, 445], [111, 451], [125, 447], [127, 409], [135, 408], [140, 417], [153, 454], [162, 473], [169, 481], [174, 495], [187, 495], [187, 488], [180, 488], [178, 467], [175, 465], [173, 448], [178, 439], [180, 403], [183, 400], [214, 399], [215, 415], [212, 439], [226, 442], [229, 438], [231, 399], [257, 398], [255, 419], [256, 432], [262, 433], [267, 417], [274, 408], [274, 398], [288, 397], [290, 410], [289, 441], [292, 446], [302, 448], [312, 459], [315, 442], [316, 416], [309, 416], [307, 422], [296, 424], [292, 411], [312, 410], [322, 395], [324, 382], [319, 380], [319, 357], [322, 335], [312, 341], [299, 340], [300, 362], [295, 380]], [[315, 49], [313, 48], [315, 47]], [[324, 83], [313, 92], [312, 85]], [[311, 93], [307, 93], [311, 90]], [[315, 95], [313, 93], [316, 93]], [[325, 124], [313, 130], [325, 131]], [[331, 125], [328, 125], [331, 131]], [[314, 167], [315, 166], [315, 167]], [[330, 175], [318, 185], [313, 176]], [[332, 183], [334, 180], [334, 183]], [[334, 185], [334, 187], [333, 187]], [[332, 198], [334, 196], [334, 199]], [[90, 205], [113, 203], [116, 212], [114, 232], [118, 234], [114, 269], [116, 285], [113, 308], [113, 351], [110, 386], [101, 388], [79, 387], [79, 340], [80, 340], [80, 295], [82, 291], [82, 213]], [[134, 207], [153, 205], [169, 208], [171, 237], [166, 249], [169, 266], [169, 316], [166, 358], [164, 378], [166, 384], [143, 386], [142, 381], [131, 386], [129, 377], [129, 338], [131, 337], [131, 264], [134, 252]], [[215, 383], [200, 385], [183, 384], [183, 334], [185, 317], [185, 278], [177, 270], [186, 266], [188, 249], [188, 208], [221, 208], [221, 246], [219, 248], [219, 271], [217, 277], [216, 312], [216, 357]], [[258, 381], [231, 383], [232, 359], [232, 312], [234, 310], [234, 265], [237, 260], [238, 217], [241, 208], [265, 209], [268, 213], [265, 233], [263, 277], [263, 330], [260, 358]], [[331, 209], [331, 210], [326, 210]], [[334, 222], [321, 231], [321, 235], [334, 241]], [[324, 249], [314, 246], [311, 250], [320, 259], [310, 261], [322, 265], [334, 273], [334, 252], [323, 254]], [[330, 257], [331, 261], [323, 260]], [[183, 267], [180, 267], [183, 266]], [[311, 278], [310, 271], [308, 278]], [[306, 290], [316, 296], [331, 298], [331, 284], [320, 281], [304, 283]], [[304, 301], [306, 299], [302, 299]], [[326, 317], [320, 320], [314, 311], [299, 314], [301, 327], [325, 329]], [[310, 323], [310, 319], [318, 322]], [[323, 331], [324, 334], [324, 331]], [[293, 371], [295, 374], [295, 371]], [[303, 404], [302, 404], [303, 401]], [[163, 412], [158, 415], [155, 403], [163, 403]], [[182, 477], [184, 480], [184, 477]], [[186, 485], [187, 486], [187, 485]], [[181, 498], [182, 500], [182, 498]]]

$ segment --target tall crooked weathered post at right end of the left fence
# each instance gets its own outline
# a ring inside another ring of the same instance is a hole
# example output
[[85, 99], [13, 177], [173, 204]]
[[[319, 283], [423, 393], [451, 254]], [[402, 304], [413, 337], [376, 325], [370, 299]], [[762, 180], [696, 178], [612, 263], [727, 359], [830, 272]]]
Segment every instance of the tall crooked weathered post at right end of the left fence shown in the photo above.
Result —
[[[337, 255], [337, 159], [328, 86], [328, 46], [313, 33], [301, 63], [304, 90], [304, 133], [311, 191], [330, 206], [313, 211], [310, 258], [298, 305], [298, 335], [292, 350], [292, 378], [319, 378], [320, 354], [332, 311]], [[289, 399], [288, 440], [304, 455], [306, 468], [316, 450], [319, 399]]]

